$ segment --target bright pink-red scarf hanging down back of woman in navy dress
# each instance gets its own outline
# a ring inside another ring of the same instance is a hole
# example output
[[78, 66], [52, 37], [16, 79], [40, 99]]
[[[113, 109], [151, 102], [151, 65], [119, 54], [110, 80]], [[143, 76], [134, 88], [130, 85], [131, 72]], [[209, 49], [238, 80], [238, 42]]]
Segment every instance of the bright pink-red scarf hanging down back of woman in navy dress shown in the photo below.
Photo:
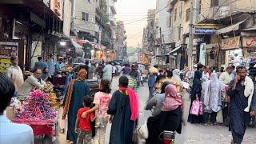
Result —
[[119, 90], [126, 90], [129, 95], [130, 99], [130, 120], [135, 121], [138, 118], [138, 98], [135, 94], [134, 90], [126, 88], [126, 87], [119, 87]]

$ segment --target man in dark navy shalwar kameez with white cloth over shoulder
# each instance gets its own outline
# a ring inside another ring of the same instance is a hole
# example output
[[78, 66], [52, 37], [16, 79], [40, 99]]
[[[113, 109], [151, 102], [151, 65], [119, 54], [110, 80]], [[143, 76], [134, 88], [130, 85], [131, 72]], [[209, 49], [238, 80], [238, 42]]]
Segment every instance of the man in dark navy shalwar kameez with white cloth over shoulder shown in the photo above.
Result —
[[233, 137], [231, 143], [235, 144], [242, 143], [246, 126], [250, 122], [250, 105], [254, 102], [254, 82], [246, 74], [246, 68], [239, 66], [237, 75], [230, 82], [230, 89], [227, 91], [230, 96], [230, 130]]

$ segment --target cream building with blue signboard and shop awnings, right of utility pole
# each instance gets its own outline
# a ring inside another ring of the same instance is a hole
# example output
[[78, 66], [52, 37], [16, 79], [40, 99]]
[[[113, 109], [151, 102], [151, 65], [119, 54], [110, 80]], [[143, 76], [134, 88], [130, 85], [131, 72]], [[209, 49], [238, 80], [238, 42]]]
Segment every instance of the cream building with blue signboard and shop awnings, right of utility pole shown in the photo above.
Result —
[[[254, 0], [212, 0], [198, 2], [195, 39], [198, 61], [206, 65], [234, 64], [234, 55], [246, 61], [255, 53], [256, 38]], [[197, 3], [196, 3], [197, 4]]]

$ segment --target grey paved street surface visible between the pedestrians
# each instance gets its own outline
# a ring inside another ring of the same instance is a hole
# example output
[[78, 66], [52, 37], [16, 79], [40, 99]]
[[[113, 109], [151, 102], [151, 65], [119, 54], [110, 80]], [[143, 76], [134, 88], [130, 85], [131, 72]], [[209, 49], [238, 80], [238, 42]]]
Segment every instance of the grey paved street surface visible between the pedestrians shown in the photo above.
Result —
[[[114, 79], [112, 82], [112, 91], [118, 89], [118, 78]], [[139, 88], [139, 126], [146, 121], [148, 117], [150, 117], [150, 111], [144, 110], [144, 106], [146, 104], [148, 98], [148, 88], [147, 86], [143, 86]], [[188, 94], [185, 92], [183, 94], [183, 98], [186, 102], [186, 109], [184, 114], [184, 119], [187, 119], [188, 109], [190, 106], [190, 99], [188, 98]], [[110, 125], [107, 126], [106, 130], [106, 144], [109, 142], [109, 134], [110, 134]], [[190, 123], [186, 123], [186, 126], [182, 125], [182, 134], [176, 134], [175, 143], [177, 144], [230, 144], [231, 133], [228, 131], [226, 126], [202, 126], [202, 125], [191, 125]], [[58, 142], [60, 144], [66, 143], [65, 134], [58, 134]], [[141, 142], [140, 142], [141, 143]], [[251, 129], [248, 128], [246, 130], [246, 135], [244, 137], [244, 144], [256, 144], [256, 128]]]

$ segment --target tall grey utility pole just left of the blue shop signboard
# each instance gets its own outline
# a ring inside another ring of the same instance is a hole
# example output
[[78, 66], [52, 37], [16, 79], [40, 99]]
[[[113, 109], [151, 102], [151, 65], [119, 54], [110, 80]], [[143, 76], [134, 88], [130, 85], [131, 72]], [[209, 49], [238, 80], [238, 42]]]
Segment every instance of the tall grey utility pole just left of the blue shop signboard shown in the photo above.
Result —
[[188, 45], [188, 67], [192, 70], [193, 66], [193, 17], [194, 17], [194, 0], [190, 0], [190, 34], [189, 34], [189, 45]]

